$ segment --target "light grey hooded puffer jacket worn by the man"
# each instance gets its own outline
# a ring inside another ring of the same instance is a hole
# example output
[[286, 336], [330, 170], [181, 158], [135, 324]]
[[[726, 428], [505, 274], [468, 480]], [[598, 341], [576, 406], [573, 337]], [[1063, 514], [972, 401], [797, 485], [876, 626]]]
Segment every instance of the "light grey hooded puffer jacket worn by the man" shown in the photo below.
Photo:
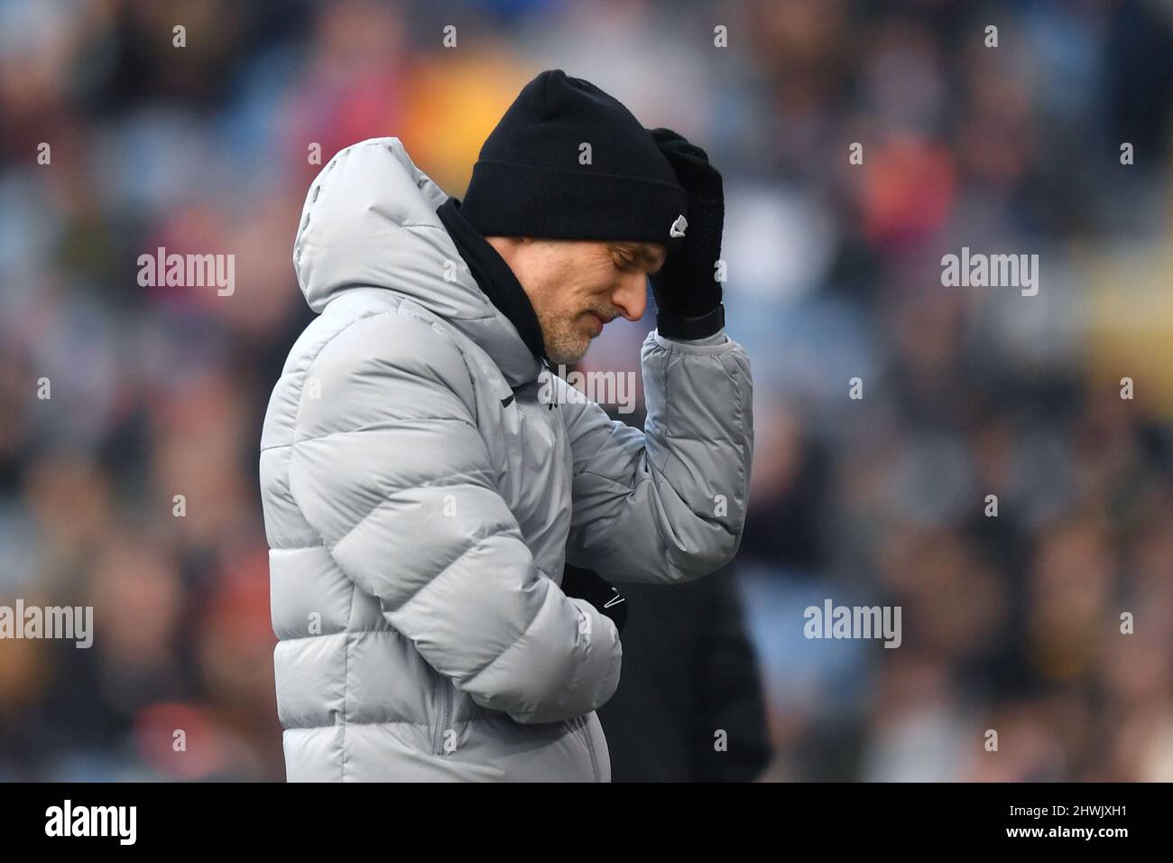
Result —
[[619, 639], [563, 565], [671, 584], [733, 557], [750, 363], [653, 331], [645, 432], [568, 399], [476, 285], [446, 200], [394, 137], [306, 196], [293, 262], [320, 315], [260, 441], [287, 777], [609, 781], [595, 709]]

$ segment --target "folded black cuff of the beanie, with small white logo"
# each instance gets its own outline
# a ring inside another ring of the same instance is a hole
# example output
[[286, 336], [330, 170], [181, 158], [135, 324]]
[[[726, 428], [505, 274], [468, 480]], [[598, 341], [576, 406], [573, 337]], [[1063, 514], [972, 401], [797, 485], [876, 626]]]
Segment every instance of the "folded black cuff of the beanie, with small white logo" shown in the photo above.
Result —
[[645, 177], [480, 160], [461, 213], [482, 236], [667, 245], [687, 193]]

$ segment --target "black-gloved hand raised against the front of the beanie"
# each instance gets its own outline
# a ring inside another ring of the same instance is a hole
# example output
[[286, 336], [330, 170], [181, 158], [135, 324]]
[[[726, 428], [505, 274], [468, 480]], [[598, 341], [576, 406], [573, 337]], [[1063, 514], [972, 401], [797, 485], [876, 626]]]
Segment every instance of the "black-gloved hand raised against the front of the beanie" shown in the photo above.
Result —
[[689, 194], [684, 238], [669, 245], [660, 271], [650, 276], [658, 315], [656, 328], [667, 338], [704, 338], [725, 325], [721, 283], [716, 264], [721, 256], [725, 189], [708, 155], [671, 129], [649, 129], [660, 153]]

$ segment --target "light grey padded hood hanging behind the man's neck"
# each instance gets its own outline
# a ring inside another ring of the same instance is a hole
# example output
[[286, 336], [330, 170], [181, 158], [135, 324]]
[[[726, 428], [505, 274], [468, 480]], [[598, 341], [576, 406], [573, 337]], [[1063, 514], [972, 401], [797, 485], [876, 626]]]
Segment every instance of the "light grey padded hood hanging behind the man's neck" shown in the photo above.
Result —
[[520, 386], [537, 377], [540, 363], [436, 216], [447, 200], [398, 137], [347, 147], [306, 194], [293, 242], [298, 284], [318, 313], [354, 288], [409, 297], [476, 342], [509, 385]]

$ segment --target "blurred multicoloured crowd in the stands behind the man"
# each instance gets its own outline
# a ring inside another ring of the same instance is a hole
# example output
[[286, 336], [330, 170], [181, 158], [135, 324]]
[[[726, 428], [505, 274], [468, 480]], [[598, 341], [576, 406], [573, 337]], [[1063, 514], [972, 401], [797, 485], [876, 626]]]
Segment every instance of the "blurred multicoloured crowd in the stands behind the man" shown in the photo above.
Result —
[[[90, 649], [0, 641], [0, 780], [284, 778], [257, 461], [310, 144], [395, 135], [459, 197], [544, 68], [725, 175], [764, 778], [1173, 780], [1155, 0], [0, 0], [0, 604], [95, 614]], [[1038, 295], [942, 286], [963, 245], [1037, 254]], [[141, 288], [157, 247], [233, 254], [235, 294]], [[900, 605], [902, 646], [807, 640], [828, 598]]]

